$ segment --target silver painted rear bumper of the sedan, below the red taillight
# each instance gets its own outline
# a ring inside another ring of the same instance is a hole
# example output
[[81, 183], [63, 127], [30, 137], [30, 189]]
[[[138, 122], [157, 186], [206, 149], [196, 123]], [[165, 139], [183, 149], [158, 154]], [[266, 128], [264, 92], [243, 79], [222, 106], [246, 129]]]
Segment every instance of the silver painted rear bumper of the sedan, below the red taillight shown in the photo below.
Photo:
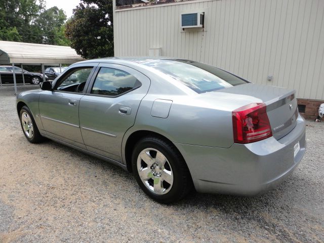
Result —
[[[300, 150], [294, 156], [294, 146]], [[300, 163], [306, 150], [305, 120], [285, 137], [216, 148], [175, 143], [198, 192], [256, 195], [275, 187]]]

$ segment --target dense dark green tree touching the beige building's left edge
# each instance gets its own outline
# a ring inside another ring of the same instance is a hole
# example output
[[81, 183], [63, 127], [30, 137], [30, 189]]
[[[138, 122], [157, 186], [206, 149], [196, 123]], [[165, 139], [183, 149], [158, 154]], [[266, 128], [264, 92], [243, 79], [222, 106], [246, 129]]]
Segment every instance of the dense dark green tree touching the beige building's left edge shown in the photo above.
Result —
[[65, 35], [80, 56], [113, 56], [112, 0], [82, 0], [66, 22]]

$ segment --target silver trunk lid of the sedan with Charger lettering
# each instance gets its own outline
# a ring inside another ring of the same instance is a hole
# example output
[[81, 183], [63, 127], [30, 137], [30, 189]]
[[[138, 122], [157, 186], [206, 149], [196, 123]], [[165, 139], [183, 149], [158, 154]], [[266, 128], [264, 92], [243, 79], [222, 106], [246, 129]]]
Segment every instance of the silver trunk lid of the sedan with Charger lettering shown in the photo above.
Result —
[[[255, 98], [265, 103], [272, 135], [277, 140], [287, 135], [296, 126], [298, 107], [295, 90], [250, 83], [218, 90], [215, 93], [217, 92], [236, 94], [239, 96], [244, 95], [246, 96], [246, 104], [255, 103]], [[241, 103], [240, 106], [246, 104]]]

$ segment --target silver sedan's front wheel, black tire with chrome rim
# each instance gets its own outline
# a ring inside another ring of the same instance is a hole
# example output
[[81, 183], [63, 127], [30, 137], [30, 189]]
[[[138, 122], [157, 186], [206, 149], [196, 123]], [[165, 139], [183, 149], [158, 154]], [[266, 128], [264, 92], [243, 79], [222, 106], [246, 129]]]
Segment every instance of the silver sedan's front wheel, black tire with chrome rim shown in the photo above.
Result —
[[[28, 114], [27, 116], [25, 116], [26, 114]], [[21, 125], [21, 129], [26, 137], [26, 139], [31, 142], [31, 143], [40, 143], [44, 141], [44, 137], [39, 133], [37, 125], [35, 123], [34, 117], [32, 116], [29, 108], [27, 106], [23, 106], [19, 112], [19, 119], [20, 119], [20, 125]], [[31, 124], [28, 122], [26, 122], [26, 119], [31, 121]], [[23, 125], [24, 124], [24, 125]], [[25, 132], [24, 126], [26, 126], [26, 128], [28, 127], [28, 125], [32, 128], [32, 132], [31, 130], [29, 130], [30, 132]], [[29, 136], [28, 136], [28, 135]]]

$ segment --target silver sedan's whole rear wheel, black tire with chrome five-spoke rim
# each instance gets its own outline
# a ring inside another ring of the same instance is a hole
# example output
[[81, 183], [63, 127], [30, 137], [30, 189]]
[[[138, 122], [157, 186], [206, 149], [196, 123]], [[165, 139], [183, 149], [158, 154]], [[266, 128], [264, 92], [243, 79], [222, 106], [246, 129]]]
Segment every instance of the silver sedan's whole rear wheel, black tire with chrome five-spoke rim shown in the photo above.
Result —
[[192, 188], [184, 159], [172, 143], [163, 139], [140, 140], [133, 151], [132, 167], [139, 186], [159, 203], [178, 201]]

